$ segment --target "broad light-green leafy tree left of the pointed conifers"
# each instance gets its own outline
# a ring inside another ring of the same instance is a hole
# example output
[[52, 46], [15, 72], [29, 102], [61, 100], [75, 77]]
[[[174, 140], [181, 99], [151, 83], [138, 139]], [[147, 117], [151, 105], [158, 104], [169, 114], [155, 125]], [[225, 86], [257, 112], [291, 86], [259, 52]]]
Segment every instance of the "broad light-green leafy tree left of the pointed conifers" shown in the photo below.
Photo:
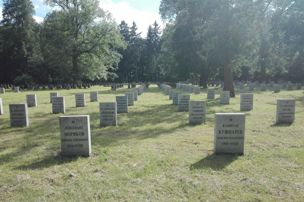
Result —
[[53, 39], [62, 42], [53, 48], [68, 55], [73, 82], [106, 79], [108, 70], [116, 69], [121, 57], [117, 49], [126, 47], [112, 15], [99, 7], [98, 0], [44, 0], [44, 3], [59, 8], [49, 12], [44, 23]]

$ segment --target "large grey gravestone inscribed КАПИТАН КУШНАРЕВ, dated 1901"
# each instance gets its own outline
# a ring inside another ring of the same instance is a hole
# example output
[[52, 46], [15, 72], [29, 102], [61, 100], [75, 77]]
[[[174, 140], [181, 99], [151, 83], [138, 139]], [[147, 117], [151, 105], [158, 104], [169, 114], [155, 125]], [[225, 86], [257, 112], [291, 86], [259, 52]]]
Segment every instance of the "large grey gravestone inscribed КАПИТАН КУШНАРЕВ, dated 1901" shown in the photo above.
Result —
[[214, 115], [215, 154], [244, 155], [245, 116], [243, 113]]

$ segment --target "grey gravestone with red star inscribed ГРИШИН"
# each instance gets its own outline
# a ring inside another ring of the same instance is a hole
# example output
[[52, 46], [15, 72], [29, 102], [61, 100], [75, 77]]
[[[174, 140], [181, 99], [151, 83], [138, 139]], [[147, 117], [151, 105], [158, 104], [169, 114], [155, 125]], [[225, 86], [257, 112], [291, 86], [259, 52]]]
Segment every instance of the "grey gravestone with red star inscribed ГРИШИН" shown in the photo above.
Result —
[[189, 124], [206, 123], [206, 100], [189, 101]]

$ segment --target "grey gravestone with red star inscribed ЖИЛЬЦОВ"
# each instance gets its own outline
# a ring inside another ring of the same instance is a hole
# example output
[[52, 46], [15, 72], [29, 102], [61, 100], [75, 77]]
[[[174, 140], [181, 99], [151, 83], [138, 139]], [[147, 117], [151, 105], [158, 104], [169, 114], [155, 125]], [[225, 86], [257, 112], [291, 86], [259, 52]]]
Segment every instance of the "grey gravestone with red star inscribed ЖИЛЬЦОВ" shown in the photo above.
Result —
[[100, 126], [116, 126], [117, 111], [116, 102], [99, 102]]

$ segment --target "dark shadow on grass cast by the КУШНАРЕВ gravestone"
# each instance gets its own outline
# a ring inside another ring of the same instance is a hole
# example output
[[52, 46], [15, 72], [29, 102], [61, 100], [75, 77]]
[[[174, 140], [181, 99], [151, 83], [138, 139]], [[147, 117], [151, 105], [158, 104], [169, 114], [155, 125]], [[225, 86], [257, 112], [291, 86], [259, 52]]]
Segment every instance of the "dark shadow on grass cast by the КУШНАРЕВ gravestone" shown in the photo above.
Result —
[[231, 155], [231, 154], [210, 154], [205, 158], [195, 162], [194, 164], [190, 165], [190, 170], [197, 170], [197, 169], [212, 169], [212, 170], [222, 170], [233, 161], [237, 160], [238, 155]]

